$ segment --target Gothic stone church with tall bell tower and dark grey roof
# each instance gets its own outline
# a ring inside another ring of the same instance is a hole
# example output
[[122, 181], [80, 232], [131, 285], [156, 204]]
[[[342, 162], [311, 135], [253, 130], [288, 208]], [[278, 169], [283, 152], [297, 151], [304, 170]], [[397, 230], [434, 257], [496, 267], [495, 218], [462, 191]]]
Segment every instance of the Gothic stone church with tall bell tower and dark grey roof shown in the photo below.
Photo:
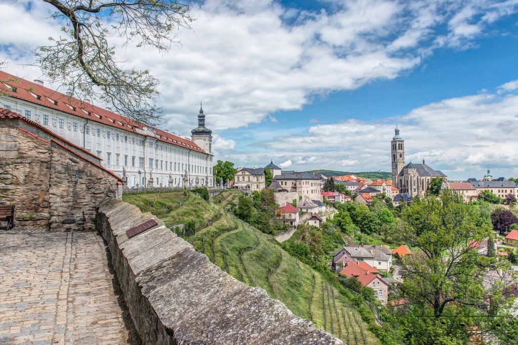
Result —
[[412, 197], [422, 196], [428, 190], [432, 178], [440, 177], [446, 181], [447, 176], [439, 170], [428, 167], [424, 159], [422, 164], [410, 162], [405, 165], [405, 140], [399, 135], [397, 126], [394, 134], [391, 141], [392, 185], [398, 188], [400, 193], [406, 193]]

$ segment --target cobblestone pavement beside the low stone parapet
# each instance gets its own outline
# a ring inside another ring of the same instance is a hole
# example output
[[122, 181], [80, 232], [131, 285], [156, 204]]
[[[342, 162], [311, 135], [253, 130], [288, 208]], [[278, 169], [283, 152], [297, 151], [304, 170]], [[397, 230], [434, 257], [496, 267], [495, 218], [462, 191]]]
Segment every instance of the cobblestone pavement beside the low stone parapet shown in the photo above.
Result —
[[92, 232], [0, 232], [0, 344], [131, 343], [105, 248]]

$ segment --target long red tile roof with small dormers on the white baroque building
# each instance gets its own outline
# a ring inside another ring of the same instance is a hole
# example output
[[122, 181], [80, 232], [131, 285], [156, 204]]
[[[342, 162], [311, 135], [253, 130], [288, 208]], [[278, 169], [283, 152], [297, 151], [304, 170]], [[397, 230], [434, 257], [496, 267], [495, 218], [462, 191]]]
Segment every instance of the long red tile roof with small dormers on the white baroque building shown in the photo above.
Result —
[[[14, 81], [11, 81], [13, 79]], [[0, 83], [0, 92], [4, 92], [13, 98], [23, 99], [31, 103], [39, 104], [40, 106], [88, 119], [91, 122], [101, 123], [125, 131], [134, 132], [135, 134], [146, 135], [139, 133], [137, 128], [153, 128], [155, 129], [157, 136], [160, 136], [160, 138], [153, 136], [152, 138], [154, 139], [159, 139], [162, 142], [207, 154], [205, 151], [203, 151], [202, 148], [188, 139], [183, 139], [176, 136], [175, 134], [162, 131], [146, 124], [135, 122], [130, 118], [112, 113], [111, 111], [103, 108], [96, 107], [93, 104], [81, 101], [77, 98], [68, 97], [65, 94], [18, 78], [4, 71], [0, 71], [0, 80], [7, 80], [4, 82], [5, 84], [16, 88], [16, 91], [10, 91], [2, 83]], [[150, 137], [149, 135], [147, 136]]]

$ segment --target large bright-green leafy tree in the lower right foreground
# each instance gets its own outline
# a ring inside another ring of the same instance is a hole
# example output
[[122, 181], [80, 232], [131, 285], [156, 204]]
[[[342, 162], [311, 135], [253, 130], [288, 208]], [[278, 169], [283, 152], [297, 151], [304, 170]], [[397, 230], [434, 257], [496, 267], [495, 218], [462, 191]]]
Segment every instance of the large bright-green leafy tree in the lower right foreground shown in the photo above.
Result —
[[[407, 343], [464, 344], [485, 333], [500, 337], [495, 328], [499, 318], [488, 316], [507, 316], [512, 302], [501, 298], [501, 287], [484, 285], [495, 259], [479, 256], [468, 246], [471, 239], [480, 240], [491, 231], [476, 226], [475, 211], [450, 190], [439, 199], [428, 196], [402, 210], [400, 238], [419, 248], [401, 264], [406, 275], [401, 296], [411, 306], [404, 322], [413, 323], [412, 334], [406, 331]], [[437, 342], [444, 335], [451, 340]]]

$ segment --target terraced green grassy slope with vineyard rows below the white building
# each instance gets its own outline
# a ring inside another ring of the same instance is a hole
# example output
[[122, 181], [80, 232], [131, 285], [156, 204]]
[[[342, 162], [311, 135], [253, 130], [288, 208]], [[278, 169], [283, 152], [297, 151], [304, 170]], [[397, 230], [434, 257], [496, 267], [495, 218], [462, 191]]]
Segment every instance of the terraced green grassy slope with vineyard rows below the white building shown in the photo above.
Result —
[[345, 343], [379, 344], [346, 297], [320, 273], [290, 256], [270, 236], [227, 212], [241, 192], [228, 190], [207, 203], [182, 192], [124, 196], [123, 200], [152, 212], [171, 225], [196, 222], [184, 236], [221, 269], [236, 279], [265, 289], [300, 317], [341, 338]]

